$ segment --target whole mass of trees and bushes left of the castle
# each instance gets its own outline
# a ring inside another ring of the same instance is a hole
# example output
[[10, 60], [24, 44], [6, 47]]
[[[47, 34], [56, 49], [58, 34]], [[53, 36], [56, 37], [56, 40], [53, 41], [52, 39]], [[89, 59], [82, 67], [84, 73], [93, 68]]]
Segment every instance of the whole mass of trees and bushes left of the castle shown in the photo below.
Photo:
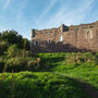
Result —
[[29, 41], [15, 30], [0, 34], [0, 72], [38, 71], [40, 59], [29, 52]]

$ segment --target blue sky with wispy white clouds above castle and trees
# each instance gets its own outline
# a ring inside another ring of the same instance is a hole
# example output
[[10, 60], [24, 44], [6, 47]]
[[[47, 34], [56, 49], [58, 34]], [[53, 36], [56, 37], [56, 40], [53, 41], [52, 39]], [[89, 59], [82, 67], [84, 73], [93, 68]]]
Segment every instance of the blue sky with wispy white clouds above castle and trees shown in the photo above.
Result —
[[14, 29], [30, 39], [30, 29], [98, 21], [98, 0], [0, 0], [0, 32]]

